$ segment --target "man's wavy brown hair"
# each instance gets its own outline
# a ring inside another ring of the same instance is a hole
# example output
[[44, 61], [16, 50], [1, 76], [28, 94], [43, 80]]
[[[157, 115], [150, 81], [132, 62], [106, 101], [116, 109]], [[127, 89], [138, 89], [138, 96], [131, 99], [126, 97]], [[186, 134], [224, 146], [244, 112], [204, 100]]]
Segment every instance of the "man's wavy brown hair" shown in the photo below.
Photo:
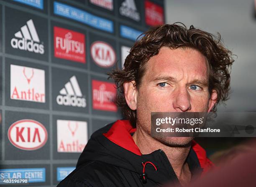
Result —
[[[139, 89], [141, 78], [146, 70], [146, 63], [159, 53], [161, 47], [170, 47], [171, 49], [188, 47], [201, 52], [209, 63], [209, 92], [211, 93], [212, 89], [217, 90], [217, 104], [228, 100], [230, 68], [234, 60], [232, 52], [224, 47], [219, 33], [217, 37], [197, 29], [193, 25], [188, 29], [179, 22], [151, 27], [138, 37], [125, 59], [123, 69], [108, 73], [109, 78], [115, 81], [119, 90], [116, 103], [122, 108], [125, 119], [130, 120], [134, 127], [136, 127], [136, 110], [131, 110], [127, 105], [123, 84], [135, 81], [135, 86]], [[216, 110], [215, 105], [212, 112], [216, 112]]]

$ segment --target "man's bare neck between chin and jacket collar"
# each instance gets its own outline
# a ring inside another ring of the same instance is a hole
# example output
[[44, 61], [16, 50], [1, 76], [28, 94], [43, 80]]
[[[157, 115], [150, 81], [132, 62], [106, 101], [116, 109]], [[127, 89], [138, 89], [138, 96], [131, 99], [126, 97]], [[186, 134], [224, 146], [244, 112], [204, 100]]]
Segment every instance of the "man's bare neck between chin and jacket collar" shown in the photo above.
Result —
[[185, 162], [191, 147], [190, 144], [184, 147], [168, 146], [154, 139], [148, 135], [148, 133], [143, 132], [139, 127], [137, 127], [136, 132], [133, 134], [133, 140], [143, 155], [149, 154], [158, 149], [163, 150], [180, 181], [183, 180], [183, 176], [186, 176], [185, 178], [187, 178], [188, 175], [190, 176], [189, 167]]

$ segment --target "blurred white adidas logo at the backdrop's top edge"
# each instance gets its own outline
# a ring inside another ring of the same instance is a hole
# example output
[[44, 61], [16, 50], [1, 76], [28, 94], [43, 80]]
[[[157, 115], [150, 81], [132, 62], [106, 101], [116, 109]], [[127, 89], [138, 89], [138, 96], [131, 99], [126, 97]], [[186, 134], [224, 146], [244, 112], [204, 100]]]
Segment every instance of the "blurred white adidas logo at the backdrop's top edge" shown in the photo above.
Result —
[[119, 8], [119, 12], [121, 15], [125, 17], [129, 17], [135, 21], [140, 21], [141, 16], [137, 12], [137, 8], [134, 0], [125, 0]]

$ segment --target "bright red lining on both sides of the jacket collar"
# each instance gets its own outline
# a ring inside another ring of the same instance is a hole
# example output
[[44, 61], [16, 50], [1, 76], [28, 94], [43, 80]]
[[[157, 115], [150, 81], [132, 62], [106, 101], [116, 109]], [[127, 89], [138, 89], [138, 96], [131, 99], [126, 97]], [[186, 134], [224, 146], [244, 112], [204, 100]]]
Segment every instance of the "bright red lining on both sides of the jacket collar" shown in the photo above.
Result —
[[[136, 155], [142, 155], [140, 149], [135, 144], [133, 137], [130, 133], [136, 131], [136, 128], [131, 126], [129, 120], [117, 120], [110, 130], [103, 135], [111, 142], [123, 147], [124, 149], [133, 152]], [[192, 141], [192, 149], [195, 151], [199, 160], [200, 166], [203, 169], [203, 173], [207, 172], [213, 163], [207, 158], [205, 150], [195, 140]]]

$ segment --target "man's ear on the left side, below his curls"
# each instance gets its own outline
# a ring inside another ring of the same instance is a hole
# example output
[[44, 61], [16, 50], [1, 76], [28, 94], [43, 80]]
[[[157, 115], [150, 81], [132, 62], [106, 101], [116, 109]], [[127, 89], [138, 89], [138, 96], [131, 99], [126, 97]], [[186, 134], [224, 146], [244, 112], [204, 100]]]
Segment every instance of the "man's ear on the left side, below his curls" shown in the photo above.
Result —
[[138, 91], [136, 89], [135, 81], [125, 82], [123, 84], [124, 93], [125, 93], [125, 100], [127, 105], [131, 108], [131, 110], [137, 109], [137, 94]]

